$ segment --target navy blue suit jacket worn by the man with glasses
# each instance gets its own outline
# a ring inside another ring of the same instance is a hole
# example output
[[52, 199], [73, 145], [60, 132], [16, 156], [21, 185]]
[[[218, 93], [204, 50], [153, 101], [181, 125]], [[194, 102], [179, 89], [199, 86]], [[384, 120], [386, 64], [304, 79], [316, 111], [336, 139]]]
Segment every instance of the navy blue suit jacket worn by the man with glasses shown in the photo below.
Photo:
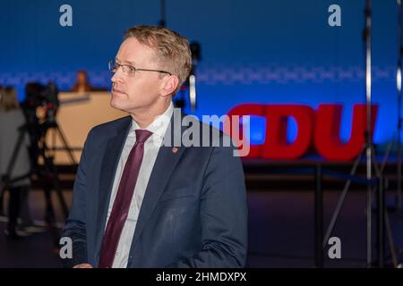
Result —
[[[130, 116], [87, 137], [63, 236], [73, 240], [64, 266], [97, 267], [118, 159]], [[173, 120], [167, 132], [172, 128]], [[210, 129], [200, 124], [201, 130]], [[181, 132], [186, 128], [182, 127]], [[219, 133], [222, 139], [223, 134]], [[128, 267], [244, 267], [247, 206], [244, 172], [234, 147], [162, 146], [133, 235]]]

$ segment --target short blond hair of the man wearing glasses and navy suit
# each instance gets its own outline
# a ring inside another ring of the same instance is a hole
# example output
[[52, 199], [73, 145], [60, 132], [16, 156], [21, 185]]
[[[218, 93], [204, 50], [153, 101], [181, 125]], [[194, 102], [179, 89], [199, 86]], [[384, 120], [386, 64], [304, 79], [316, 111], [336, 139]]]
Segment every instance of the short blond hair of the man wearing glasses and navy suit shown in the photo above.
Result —
[[124, 33], [124, 39], [136, 38], [141, 44], [154, 49], [157, 61], [179, 78], [174, 94], [192, 70], [189, 42], [175, 31], [159, 26], [135, 26]]

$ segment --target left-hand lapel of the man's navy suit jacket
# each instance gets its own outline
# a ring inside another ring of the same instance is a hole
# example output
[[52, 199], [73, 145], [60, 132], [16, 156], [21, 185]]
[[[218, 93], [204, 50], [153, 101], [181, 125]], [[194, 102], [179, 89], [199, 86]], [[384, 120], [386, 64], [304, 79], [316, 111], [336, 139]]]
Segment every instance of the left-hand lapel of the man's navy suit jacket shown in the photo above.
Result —
[[[96, 229], [96, 248], [97, 254], [99, 253], [100, 245], [102, 242], [105, 225], [107, 223], [107, 208], [109, 206], [110, 196], [112, 193], [112, 186], [115, 179], [117, 164], [121, 156], [124, 141], [127, 133], [130, 130], [132, 121], [131, 117], [127, 118], [123, 126], [116, 129], [116, 135], [107, 140], [107, 147], [105, 149], [104, 158], [99, 178], [99, 206], [96, 216], [97, 223]], [[96, 259], [98, 261], [98, 259]]]

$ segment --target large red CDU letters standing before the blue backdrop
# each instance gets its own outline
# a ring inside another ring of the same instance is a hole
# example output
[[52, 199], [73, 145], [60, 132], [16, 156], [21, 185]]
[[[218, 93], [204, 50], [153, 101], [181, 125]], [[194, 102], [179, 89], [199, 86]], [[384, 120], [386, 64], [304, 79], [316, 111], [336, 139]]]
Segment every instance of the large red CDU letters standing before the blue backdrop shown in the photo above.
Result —
[[[342, 105], [339, 104], [322, 104], [317, 111], [309, 105], [243, 104], [236, 105], [228, 115], [258, 115], [266, 119], [264, 143], [251, 144], [248, 158], [292, 160], [304, 156], [314, 147], [316, 152], [326, 160], [348, 161], [360, 154], [365, 143], [365, 105], [354, 105], [353, 123], [348, 142], [342, 142], [339, 138], [341, 111]], [[372, 105], [372, 134], [377, 112], [378, 105]], [[297, 124], [296, 139], [293, 142], [287, 142], [289, 117], [294, 118]], [[242, 130], [242, 126], [230, 128], [231, 137], [239, 140], [237, 132]]]

